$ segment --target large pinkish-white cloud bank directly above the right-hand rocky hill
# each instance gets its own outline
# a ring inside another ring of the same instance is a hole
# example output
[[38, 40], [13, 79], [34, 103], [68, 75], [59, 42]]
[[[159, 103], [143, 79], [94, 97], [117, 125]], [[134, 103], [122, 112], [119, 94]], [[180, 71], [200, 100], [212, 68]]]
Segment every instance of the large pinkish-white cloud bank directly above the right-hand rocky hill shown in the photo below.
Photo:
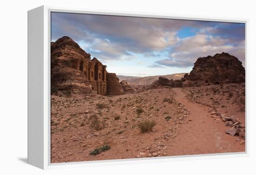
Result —
[[244, 41], [232, 45], [229, 44], [229, 39], [199, 33], [180, 39], [169, 52], [169, 57], [158, 60], [155, 64], [169, 67], [191, 67], [199, 57], [213, 56], [222, 52], [228, 52], [243, 62], [245, 60]]

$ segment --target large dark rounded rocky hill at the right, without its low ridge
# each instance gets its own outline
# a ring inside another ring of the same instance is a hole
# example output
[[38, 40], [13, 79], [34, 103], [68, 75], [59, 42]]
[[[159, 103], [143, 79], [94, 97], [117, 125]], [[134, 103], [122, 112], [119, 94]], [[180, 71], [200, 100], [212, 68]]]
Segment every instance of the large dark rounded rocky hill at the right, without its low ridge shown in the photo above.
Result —
[[245, 69], [238, 58], [229, 53], [198, 58], [188, 79], [199, 84], [245, 82]]

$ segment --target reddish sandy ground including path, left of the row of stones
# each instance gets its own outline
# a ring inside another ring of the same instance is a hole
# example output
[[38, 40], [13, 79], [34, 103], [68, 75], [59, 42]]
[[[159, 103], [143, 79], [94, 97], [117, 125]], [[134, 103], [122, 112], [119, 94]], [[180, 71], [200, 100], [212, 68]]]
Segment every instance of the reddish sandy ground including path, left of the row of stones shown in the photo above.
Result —
[[[230, 127], [211, 117], [209, 106], [189, 100], [188, 93], [189, 89], [174, 88], [115, 97], [52, 96], [51, 162], [245, 151], [242, 138], [226, 134]], [[107, 107], [98, 109], [96, 104]], [[144, 112], [137, 114], [137, 108]], [[92, 115], [105, 123], [104, 129], [90, 127]], [[137, 124], [146, 119], [154, 119], [156, 125], [151, 132], [141, 133]], [[104, 144], [110, 149], [89, 155]]]

